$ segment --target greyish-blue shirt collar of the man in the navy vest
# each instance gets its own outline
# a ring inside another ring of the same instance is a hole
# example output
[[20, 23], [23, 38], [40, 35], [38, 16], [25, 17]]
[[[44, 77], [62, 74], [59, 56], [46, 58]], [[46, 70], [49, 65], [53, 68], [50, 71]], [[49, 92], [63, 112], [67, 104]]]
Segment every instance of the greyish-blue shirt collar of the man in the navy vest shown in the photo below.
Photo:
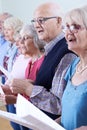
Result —
[[57, 44], [57, 42], [63, 38], [64, 38], [64, 33], [62, 32], [56, 38], [54, 38], [52, 41], [47, 43], [44, 47], [45, 55], [47, 55], [52, 50], [52, 48]]

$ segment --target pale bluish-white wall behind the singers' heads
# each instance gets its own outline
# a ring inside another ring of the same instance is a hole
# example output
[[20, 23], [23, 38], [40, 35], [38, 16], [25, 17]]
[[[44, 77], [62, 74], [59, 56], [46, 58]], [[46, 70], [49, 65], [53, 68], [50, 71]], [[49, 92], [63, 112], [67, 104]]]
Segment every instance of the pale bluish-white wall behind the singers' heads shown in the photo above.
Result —
[[[52, 0], [0, 0], [0, 12], [9, 12], [21, 18], [25, 23], [30, 23], [35, 8]], [[64, 11], [87, 4], [87, 0], [53, 0], [62, 6]]]

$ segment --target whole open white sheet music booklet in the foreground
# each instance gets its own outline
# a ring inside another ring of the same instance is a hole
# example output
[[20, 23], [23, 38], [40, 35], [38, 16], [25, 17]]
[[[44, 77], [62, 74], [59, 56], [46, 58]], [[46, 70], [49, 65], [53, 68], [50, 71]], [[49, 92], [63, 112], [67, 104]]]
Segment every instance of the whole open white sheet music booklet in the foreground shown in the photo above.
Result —
[[17, 114], [0, 110], [0, 117], [33, 130], [65, 130], [19, 94], [17, 98]]

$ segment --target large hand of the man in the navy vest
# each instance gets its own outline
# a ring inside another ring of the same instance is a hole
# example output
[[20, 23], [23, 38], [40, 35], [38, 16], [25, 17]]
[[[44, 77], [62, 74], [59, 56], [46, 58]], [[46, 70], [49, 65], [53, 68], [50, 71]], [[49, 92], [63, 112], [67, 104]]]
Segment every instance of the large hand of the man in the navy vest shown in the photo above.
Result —
[[12, 79], [9, 83], [13, 93], [31, 95], [33, 85], [27, 79]]

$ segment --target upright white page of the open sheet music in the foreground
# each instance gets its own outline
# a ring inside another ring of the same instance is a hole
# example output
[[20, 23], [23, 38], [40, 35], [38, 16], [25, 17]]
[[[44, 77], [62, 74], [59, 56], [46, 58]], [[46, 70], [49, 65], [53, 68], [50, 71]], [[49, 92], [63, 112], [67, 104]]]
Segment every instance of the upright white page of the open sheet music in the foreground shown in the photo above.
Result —
[[65, 130], [20, 94], [16, 110], [19, 117], [34, 124], [39, 130]]

